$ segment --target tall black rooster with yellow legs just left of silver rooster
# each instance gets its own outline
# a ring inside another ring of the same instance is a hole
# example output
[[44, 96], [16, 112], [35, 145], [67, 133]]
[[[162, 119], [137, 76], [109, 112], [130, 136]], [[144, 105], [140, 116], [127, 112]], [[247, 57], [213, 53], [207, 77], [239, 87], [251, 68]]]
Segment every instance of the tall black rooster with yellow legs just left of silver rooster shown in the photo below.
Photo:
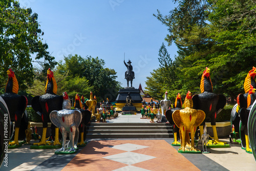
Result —
[[[41, 141], [34, 143], [34, 145], [46, 145], [46, 131], [48, 127], [48, 122], [50, 120], [50, 113], [52, 111], [62, 110], [63, 97], [57, 94], [57, 84], [54, 78], [53, 72], [49, 68], [47, 70], [47, 82], [45, 88], [46, 94], [41, 96], [35, 96], [31, 100], [31, 105], [34, 111], [41, 115], [42, 118], [42, 136]], [[53, 145], [60, 145], [59, 143], [59, 129], [54, 124], [51, 124], [52, 137], [55, 137]]]

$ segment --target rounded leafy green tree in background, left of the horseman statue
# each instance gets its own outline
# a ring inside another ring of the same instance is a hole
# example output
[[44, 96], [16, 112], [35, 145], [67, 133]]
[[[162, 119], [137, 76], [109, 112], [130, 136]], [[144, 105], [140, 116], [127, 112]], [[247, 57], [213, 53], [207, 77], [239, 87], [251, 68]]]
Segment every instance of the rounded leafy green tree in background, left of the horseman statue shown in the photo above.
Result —
[[[105, 62], [98, 57], [68, 55], [64, 57], [65, 62], [60, 61], [57, 72], [60, 74], [68, 73], [69, 77], [79, 77], [88, 80], [84, 86], [96, 95], [97, 100], [102, 101], [107, 97], [114, 101], [120, 89], [120, 83], [116, 81], [116, 72], [113, 69], [104, 68]], [[89, 91], [89, 92], [90, 92]]]

